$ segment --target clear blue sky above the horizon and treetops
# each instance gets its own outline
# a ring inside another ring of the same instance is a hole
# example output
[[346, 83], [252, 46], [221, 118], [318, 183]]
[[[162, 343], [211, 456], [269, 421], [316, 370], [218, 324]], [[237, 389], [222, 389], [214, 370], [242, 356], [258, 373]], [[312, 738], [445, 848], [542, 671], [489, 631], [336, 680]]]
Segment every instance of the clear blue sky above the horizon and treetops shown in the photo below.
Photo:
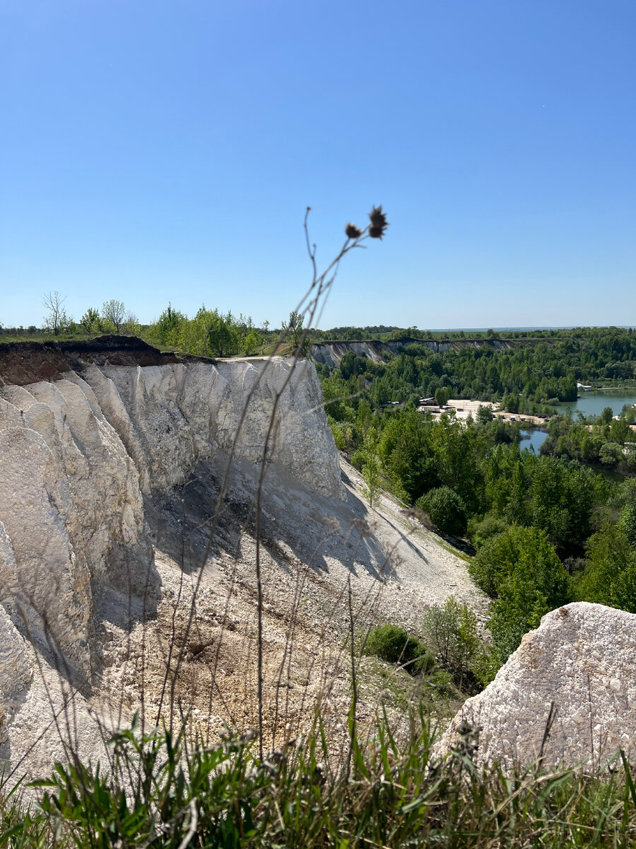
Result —
[[0, 320], [636, 323], [633, 0], [0, 0]]

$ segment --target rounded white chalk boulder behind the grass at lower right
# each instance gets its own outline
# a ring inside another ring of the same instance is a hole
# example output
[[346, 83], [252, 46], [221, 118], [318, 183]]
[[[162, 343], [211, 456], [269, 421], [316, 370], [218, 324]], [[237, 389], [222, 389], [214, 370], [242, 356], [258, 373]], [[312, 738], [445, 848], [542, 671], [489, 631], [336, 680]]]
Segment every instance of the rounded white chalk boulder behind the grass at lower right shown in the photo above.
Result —
[[545, 767], [598, 767], [619, 749], [636, 756], [636, 616], [588, 602], [546, 614], [494, 681], [462, 706], [440, 751], [457, 744], [467, 722], [479, 729], [481, 764], [536, 761], [552, 703]]

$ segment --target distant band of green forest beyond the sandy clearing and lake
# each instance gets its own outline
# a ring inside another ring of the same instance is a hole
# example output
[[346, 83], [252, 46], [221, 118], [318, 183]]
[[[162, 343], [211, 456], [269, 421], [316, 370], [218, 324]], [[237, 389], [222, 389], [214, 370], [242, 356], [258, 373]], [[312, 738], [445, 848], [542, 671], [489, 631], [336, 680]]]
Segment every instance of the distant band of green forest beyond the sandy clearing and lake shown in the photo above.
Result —
[[513, 340], [505, 350], [461, 346], [435, 352], [411, 342], [387, 363], [349, 352], [338, 369], [321, 367], [321, 376], [330, 381], [323, 388], [329, 398], [346, 397], [369, 390], [372, 383], [371, 401], [378, 404], [409, 398], [417, 402], [445, 388], [449, 397], [503, 401], [510, 412], [538, 413], [546, 404], [574, 401], [577, 382], [636, 381], [636, 334], [631, 329], [561, 334]]

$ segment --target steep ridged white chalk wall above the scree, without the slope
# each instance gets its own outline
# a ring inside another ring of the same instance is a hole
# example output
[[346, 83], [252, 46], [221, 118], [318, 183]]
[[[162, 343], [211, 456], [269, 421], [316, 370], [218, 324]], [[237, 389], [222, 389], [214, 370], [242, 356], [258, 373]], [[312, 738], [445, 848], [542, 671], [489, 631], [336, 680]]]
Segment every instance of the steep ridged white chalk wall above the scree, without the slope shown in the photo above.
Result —
[[96, 583], [131, 581], [142, 593], [148, 580], [144, 495], [183, 483], [199, 460], [234, 443], [238, 459], [259, 463], [277, 396], [268, 461], [343, 497], [308, 361], [80, 357], [70, 368], [55, 356], [53, 380], [25, 382], [36, 375], [13, 363], [24, 385], [0, 386], [0, 700], [9, 712], [29, 685], [27, 634], [90, 680]]

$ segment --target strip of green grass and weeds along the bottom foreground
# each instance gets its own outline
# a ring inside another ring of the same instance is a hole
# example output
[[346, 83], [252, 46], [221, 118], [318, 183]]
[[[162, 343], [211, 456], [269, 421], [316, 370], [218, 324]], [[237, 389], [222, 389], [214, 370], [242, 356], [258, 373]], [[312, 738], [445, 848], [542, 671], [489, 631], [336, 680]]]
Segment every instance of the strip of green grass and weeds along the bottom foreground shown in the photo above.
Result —
[[[354, 728], [351, 717], [349, 728]], [[320, 719], [263, 762], [254, 740], [206, 747], [165, 731], [120, 732], [113, 769], [75, 763], [38, 784], [31, 812], [3, 802], [0, 846], [618, 847], [636, 841], [626, 762], [604, 776], [480, 771], [467, 734], [445, 761], [424, 711], [354, 732], [334, 753]]]

